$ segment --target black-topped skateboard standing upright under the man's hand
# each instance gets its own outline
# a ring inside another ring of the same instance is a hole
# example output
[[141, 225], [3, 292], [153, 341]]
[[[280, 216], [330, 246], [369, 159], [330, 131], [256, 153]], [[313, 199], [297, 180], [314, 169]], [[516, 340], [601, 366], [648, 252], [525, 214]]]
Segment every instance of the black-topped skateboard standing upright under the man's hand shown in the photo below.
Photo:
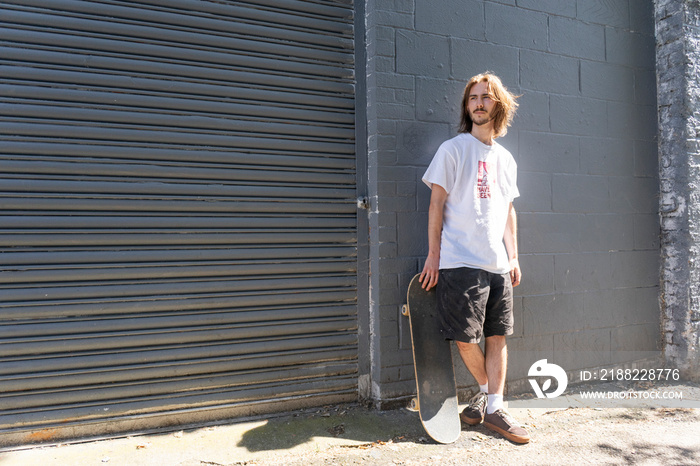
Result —
[[418, 410], [421, 424], [433, 440], [452, 443], [462, 430], [452, 348], [440, 334], [435, 288], [425, 291], [419, 276], [408, 285], [407, 304], [401, 308], [410, 322], [416, 372], [418, 397], [411, 401], [411, 407]]

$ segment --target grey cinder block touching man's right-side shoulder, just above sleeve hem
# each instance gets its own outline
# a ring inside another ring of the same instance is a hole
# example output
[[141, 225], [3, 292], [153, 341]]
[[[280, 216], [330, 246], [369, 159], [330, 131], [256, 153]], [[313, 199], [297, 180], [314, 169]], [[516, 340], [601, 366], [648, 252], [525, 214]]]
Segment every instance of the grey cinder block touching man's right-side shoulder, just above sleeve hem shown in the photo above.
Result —
[[518, 170], [544, 173], [578, 173], [578, 137], [520, 131]]

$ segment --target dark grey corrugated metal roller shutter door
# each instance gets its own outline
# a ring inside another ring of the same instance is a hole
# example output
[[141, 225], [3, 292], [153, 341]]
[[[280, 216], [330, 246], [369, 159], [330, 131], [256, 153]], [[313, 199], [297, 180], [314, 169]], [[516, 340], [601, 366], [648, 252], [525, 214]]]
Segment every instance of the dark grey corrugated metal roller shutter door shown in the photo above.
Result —
[[1, 5], [4, 442], [356, 399], [351, 0]]

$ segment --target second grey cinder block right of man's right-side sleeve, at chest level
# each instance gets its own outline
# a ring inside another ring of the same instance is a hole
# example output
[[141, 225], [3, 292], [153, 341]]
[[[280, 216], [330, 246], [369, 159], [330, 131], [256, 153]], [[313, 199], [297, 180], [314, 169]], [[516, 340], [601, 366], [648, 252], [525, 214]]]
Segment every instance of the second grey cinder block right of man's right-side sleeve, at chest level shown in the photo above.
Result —
[[554, 212], [604, 213], [610, 211], [608, 177], [552, 175]]

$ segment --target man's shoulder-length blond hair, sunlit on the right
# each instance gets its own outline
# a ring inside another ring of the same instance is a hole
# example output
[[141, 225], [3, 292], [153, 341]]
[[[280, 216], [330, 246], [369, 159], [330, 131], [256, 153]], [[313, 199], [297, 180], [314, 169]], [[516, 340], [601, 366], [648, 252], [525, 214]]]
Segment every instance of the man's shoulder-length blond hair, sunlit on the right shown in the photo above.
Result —
[[494, 137], [505, 136], [508, 132], [508, 127], [513, 121], [515, 111], [518, 108], [516, 99], [518, 96], [513, 95], [501, 82], [501, 79], [495, 74], [487, 71], [478, 74], [471, 78], [464, 87], [462, 95], [462, 117], [459, 124], [460, 133], [470, 133], [472, 130], [472, 119], [467, 111], [467, 99], [472, 87], [480, 82], [489, 84], [489, 97], [496, 103], [493, 113], [493, 130]]

